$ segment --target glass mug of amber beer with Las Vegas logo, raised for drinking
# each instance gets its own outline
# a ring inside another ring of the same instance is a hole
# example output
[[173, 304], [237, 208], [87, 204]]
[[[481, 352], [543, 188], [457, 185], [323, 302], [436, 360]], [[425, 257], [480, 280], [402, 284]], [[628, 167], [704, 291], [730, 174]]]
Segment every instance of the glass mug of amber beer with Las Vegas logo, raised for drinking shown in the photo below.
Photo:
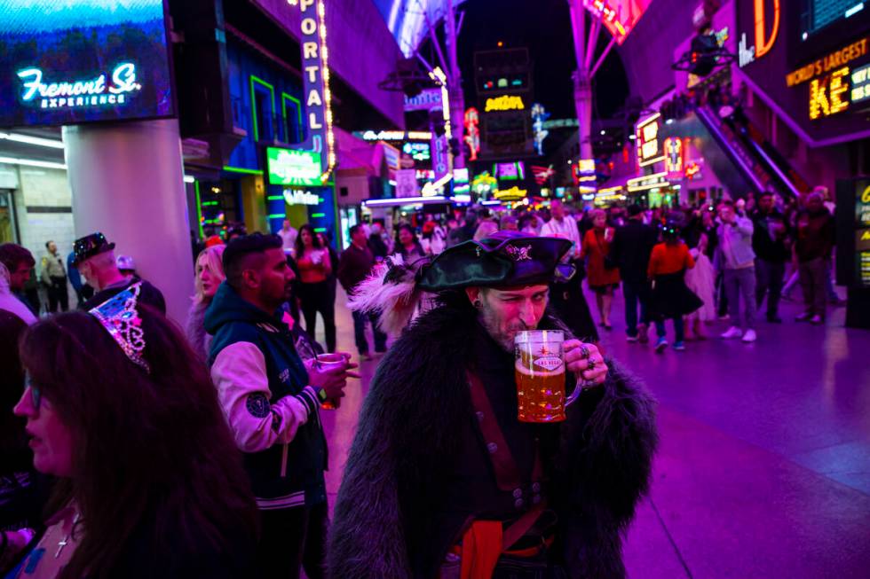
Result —
[[565, 396], [565, 333], [551, 330], [520, 332], [514, 338], [514, 374], [520, 422], [560, 422], [566, 407], [580, 395], [578, 384]]

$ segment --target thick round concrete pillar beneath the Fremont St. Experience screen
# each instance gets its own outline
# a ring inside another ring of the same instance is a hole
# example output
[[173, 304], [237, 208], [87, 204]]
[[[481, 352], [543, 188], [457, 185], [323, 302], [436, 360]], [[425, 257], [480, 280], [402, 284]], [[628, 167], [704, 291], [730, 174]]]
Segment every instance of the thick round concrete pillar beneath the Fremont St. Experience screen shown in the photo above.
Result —
[[63, 140], [76, 238], [105, 233], [184, 324], [194, 267], [178, 121], [64, 127]]

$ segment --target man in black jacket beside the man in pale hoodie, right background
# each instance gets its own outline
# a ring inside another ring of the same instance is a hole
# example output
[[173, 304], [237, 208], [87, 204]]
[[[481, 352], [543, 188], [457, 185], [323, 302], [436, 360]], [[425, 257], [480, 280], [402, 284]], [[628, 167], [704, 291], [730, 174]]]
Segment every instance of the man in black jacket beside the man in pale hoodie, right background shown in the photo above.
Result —
[[758, 209], [752, 215], [752, 250], [755, 251], [755, 305], [761, 308], [767, 296], [767, 321], [779, 324], [779, 294], [786, 275], [786, 262], [791, 257], [788, 247], [788, 226], [773, 205], [773, 193], [763, 192]]

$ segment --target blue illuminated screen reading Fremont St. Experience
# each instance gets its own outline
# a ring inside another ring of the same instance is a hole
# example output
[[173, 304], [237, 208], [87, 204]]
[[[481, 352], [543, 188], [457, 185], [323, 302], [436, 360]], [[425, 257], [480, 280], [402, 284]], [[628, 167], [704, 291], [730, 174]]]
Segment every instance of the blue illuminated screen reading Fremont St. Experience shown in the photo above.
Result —
[[0, 0], [0, 126], [174, 113], [163, 0]]

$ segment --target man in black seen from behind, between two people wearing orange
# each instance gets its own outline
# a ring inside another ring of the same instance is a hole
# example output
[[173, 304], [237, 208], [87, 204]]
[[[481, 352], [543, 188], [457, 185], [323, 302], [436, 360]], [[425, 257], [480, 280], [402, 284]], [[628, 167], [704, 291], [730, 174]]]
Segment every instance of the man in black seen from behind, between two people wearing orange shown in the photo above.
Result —
[[629, 222], [616, 230], [610, 246], [610, 257], [620, 268], [622, 291], [625, 293], [625, 332], [629, 341], [647, 341], [650, 318], [646, 307], [650, 298], [650, 282], [646, 268], [656, 236], [655, 229], [644, 223], [644, 210], [639, 205], [632, 205], [629, 207]]

